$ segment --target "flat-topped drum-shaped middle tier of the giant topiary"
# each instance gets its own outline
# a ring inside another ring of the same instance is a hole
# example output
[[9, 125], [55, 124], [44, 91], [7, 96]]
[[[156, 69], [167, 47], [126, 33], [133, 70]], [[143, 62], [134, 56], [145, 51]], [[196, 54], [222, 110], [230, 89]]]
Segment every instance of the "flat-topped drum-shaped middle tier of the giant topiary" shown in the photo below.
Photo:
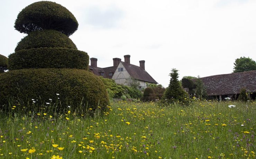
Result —
[[10, 70], [23, 68], [78, 68], [89, 67], [87, 53], [67, 48], [23, 49], [9, 55]]

